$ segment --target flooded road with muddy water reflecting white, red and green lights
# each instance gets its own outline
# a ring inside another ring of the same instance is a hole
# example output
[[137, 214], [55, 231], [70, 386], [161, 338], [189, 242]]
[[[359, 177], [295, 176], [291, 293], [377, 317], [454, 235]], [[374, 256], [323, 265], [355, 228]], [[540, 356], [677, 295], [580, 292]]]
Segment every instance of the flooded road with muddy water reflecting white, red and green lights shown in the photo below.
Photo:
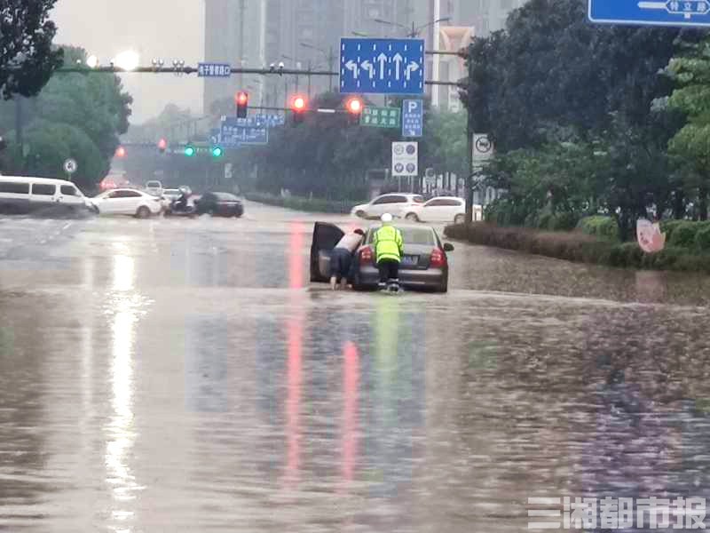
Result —
[[708, 278], [456, 243], [446, 295], [332, 293], [316, 219], [0, 220], [0, 530], [512, 532], [530, 497], [710, 496]]

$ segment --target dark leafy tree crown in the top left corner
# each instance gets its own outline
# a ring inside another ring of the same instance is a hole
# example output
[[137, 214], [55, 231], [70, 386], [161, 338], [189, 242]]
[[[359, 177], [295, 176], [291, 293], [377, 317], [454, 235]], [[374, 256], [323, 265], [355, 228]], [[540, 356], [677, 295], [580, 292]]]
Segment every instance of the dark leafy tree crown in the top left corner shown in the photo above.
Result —
[[0, 4], [0, 89], [34, 96], [62, 62], [62, 51], [52, 49], [57, 28], [49, 18], [56, 0], [4, 0]]

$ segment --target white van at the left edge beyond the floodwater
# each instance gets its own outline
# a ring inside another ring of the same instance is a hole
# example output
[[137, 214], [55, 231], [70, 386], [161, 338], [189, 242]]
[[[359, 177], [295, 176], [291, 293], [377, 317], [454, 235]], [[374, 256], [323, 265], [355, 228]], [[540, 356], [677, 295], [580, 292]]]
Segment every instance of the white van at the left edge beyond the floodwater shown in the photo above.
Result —
[[83, 211], [91, 204], [66, 179], [0, 176], [0, 214], [28, 214], [34, 211]]

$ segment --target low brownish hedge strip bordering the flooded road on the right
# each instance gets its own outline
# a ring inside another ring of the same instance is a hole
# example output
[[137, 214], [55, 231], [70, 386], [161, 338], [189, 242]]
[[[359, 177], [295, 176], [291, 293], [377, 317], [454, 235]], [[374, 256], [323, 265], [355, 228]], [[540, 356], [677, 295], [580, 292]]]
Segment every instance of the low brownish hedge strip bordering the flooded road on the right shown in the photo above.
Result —
[[448, 226], [444, 233], [448, 237], [475, 244], [568, 261], [710, 274], [710, 254], [693, 253], [677, 246], [668, 246], [659, 253], [648, 254], [637, 243], [614, 243], [609, 239], [580, 232], [542, 232], [526, 227], [498, 227], [484, 222]]

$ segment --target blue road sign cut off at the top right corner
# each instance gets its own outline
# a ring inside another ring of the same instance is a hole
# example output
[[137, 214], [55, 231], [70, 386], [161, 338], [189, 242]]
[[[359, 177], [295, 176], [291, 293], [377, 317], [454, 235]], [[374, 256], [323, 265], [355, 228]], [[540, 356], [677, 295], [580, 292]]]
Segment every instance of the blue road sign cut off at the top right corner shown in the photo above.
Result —
[[588, 16], [601, 24], [710, 26], [710, 0], [589, 0]]

